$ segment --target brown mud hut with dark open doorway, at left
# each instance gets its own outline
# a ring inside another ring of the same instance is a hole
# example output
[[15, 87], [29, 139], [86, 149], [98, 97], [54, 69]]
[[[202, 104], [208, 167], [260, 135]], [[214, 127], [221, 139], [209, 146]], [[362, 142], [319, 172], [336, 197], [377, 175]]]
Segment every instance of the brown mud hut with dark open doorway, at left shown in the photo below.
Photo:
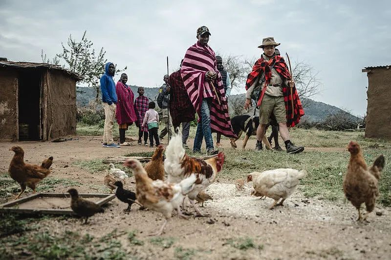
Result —
[[76, 82], [47, 63], [0, 58], [0, 140], [49, 140], [76, 134]]

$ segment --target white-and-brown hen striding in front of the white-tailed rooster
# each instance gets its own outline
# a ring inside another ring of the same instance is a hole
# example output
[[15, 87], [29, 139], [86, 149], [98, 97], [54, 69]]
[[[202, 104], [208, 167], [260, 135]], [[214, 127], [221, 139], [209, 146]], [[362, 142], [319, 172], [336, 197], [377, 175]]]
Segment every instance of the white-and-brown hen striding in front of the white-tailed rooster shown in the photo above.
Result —
[[180, 183], [165, 183], [162, 180], [152, 180], [141, 165], [141, 162], [128, 159], [125, 166], [133, 170], [136, 180], [136, 198], [145, 207], [163, 214], [165, 221], [161, 228], [154, 234], [161, 235], [168, 219], [171, 218], [174, 209], [178, 211], [180, 217], [186, 218], [180, 211], [179, 205], [184, 196], [195, 186], [195, 175], [180, 181]]

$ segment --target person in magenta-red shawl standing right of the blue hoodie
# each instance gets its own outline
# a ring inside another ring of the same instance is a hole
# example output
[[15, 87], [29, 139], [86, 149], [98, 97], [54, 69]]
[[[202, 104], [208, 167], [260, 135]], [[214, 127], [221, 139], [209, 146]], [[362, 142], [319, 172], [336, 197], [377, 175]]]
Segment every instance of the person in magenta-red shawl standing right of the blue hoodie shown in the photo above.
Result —
[[115, 115], [117, 116], [117, 123], [119, 126], [119, 144], [130, 145], [125, 141], [125, 131], [128, 130], [133, 122], [137, 121], [137, 116], [133, 107], [134, 94], [130, 89], [130, 86], [126, 84], [128, 81], [128, 75], [122, 73], [121, 79], [118, 80], [115, 85], [115, 91], [117, 92], [118, 102]]

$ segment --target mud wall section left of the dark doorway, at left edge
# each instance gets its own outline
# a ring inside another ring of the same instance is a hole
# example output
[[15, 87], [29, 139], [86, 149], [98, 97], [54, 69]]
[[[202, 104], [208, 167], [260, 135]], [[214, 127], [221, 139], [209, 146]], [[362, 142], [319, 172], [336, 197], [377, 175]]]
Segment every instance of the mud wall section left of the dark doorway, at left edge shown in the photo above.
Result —
[[0, 140], [18, 138], [17, 78], [14, 69], [0, 68]]

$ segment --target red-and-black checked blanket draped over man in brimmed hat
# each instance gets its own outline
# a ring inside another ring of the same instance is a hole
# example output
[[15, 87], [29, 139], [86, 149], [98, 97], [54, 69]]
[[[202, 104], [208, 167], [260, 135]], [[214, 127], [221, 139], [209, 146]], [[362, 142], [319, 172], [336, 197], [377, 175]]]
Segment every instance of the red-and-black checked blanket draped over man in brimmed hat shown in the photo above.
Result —
[[[274, 64], [274, 65], [273, 65]], [[271, 66], [273, 65], [273, 68], [277, 71], [278, 74], [282, 77], [282, 79], [290, 80], [291, 76], [288, 71], [288, 67], [284, 61], [284, 59], [279, 56], [275, 55], [273, 58], [271, 58], [269, 61], [263, 60], [263, 57], [261, 57], [259, 60], [257, 60], [253, 66], [253, 70], [250, 74], [247, 76], [246, 80], [246, 90], [255, 83], [255, 80], [257, 80], [257, 77], [260, 75], [261, 72], [264, 72], [265, 74], [265, 82], [264, 87], [261, 92], [260, 99], [258, 100], [258, 106], [261, 105], [264, 93], [266, 91], [267, 85], [270, 83], [271, 79]], [[296, 87], [292, 88], [292, 95], [290, 94], [290, 87], [283, 86], [282, 87], [282, 93], [284, 96], [284, 102], [285, 102], [285, 110], [286, 110], [286, 125], [288, 127], [293, 127], [297, 125], [300, 121], [300, 118], [304, 116], [304, 109], [302, 106], [302, 102], [299, 99], [299, 95], [297, 94]], [[293, 100], [293, 110], [292, 110], [292, 100]]]

